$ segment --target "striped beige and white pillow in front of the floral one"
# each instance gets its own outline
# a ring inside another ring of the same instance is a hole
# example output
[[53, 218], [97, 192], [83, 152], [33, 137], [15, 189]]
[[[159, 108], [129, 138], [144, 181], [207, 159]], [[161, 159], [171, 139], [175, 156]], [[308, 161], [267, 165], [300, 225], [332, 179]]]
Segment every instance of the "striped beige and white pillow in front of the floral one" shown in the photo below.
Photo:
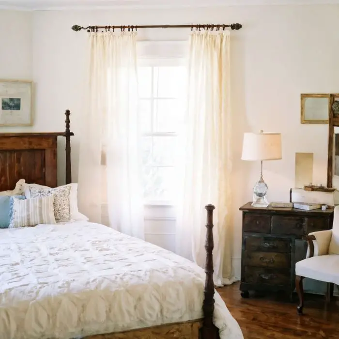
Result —
[[35, 226], [38, 224], [56, 224], [54, 217], [54, 196], [20, 200], [13, 199], [13, 214], [8, 228]]

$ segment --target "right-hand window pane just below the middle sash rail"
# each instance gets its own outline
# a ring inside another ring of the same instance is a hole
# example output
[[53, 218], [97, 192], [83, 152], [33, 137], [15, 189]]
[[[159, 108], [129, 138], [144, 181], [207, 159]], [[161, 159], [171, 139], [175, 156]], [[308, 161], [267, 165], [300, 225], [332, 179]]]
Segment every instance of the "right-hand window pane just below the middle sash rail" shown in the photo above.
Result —
[[176, 137], [153, 137], [153, 164], [172, 166], [175, 159]]

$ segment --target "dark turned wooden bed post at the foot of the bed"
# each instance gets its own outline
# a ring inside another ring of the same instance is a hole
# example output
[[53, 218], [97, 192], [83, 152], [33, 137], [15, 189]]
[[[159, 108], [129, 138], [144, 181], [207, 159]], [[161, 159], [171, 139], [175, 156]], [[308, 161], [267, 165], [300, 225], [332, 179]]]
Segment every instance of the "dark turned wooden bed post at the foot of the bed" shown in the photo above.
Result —
[[213, 205], [205, 206], [207, 210], [207, 224], [206, 224], [206, 264], [205, 264], [205, 289], [204, 289], [204, 301], [202, 305], [203, 310], [203, 324], [200, 328], [200, 339], [218, 339], [219, 331], [213, 324], [213, 312], [214, 312], [214, 282], [213, 282]]

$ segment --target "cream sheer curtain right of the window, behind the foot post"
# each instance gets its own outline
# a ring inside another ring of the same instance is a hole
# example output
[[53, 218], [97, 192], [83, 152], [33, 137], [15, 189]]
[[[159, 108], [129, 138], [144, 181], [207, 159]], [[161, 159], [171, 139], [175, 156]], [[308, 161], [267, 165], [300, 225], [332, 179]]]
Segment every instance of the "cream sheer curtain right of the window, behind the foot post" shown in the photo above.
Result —
[[176, 252], [204, 266], [204, 206], [214, 204], [214, 282], [222, 286], [234, 281], [230, 248], [230, 32], [193, 32], [189, 45]]

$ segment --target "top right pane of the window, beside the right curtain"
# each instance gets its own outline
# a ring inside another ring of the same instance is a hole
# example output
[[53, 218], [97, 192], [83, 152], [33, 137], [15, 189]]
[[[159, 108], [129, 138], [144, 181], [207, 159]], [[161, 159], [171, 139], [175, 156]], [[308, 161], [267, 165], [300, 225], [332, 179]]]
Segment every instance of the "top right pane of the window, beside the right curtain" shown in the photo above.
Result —
[[154, 67], [153, 77], [155, 97], [178, 98], [184, 94], [185, 67]]

